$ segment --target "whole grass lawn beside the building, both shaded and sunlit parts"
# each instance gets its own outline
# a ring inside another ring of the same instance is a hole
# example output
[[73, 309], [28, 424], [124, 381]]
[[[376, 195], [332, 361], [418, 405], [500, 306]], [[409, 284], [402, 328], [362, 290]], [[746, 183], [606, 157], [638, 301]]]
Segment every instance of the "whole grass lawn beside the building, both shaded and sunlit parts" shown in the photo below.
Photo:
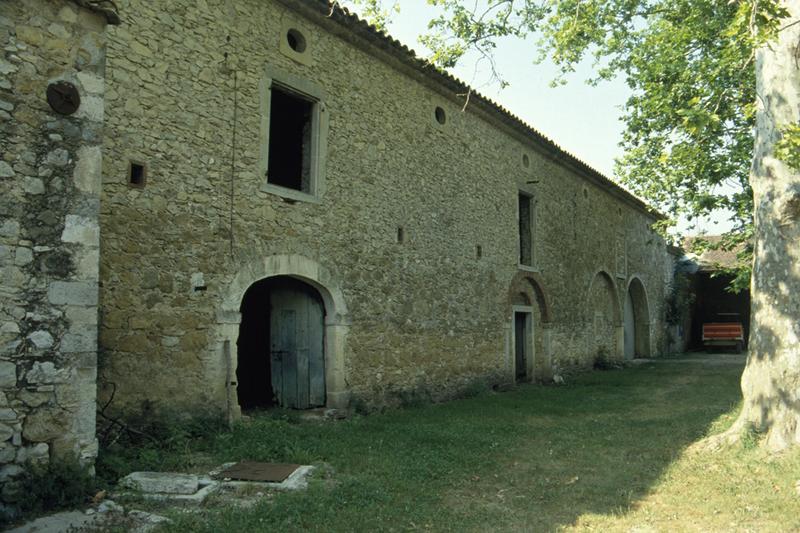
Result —
[[307, 491], [165, 511], [167, 531], [800, 530], [800, 451], [688, 452], [738, 409], [739, 365], [663, 362], [335, 422], [264, 414], [232, 432], [106, 450], [99, 472], [322, 465]]

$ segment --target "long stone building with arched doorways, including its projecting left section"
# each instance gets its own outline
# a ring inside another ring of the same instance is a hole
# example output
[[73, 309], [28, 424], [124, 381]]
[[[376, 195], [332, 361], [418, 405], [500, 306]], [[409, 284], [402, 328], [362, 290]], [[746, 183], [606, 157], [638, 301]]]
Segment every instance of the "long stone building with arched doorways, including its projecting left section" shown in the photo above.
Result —
[[0, 4], [5, 459], [90, 457], [95, 370], [116, 411], [235, 418], [660, 353], [659, 215], [354, 16], [118, 0], [103, 83], [102, 17], [36, 2]]

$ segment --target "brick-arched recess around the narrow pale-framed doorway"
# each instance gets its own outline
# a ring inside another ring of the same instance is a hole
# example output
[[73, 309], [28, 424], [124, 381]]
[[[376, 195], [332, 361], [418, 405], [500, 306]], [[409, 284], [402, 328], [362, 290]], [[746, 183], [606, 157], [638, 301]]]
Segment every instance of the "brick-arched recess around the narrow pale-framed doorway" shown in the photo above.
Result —
[[525, 381], [549, 381], [552, 379], [551, 353], [551, 306], [541, 276], [536, 272], [520, 272], [511, 281], [507, 313], [510, 318], [506, 332], [506, 366], [512, 380], [518, 379], [517, 344], [522, 341], [518, 334], [521, 327], [520, 313], [530, 313], [529, 357], [526, 361]]

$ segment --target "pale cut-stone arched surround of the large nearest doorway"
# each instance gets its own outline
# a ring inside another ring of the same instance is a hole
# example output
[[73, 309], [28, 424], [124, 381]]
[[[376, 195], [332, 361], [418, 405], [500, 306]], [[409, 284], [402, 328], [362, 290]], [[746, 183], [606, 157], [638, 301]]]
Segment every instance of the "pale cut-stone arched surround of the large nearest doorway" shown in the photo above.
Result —
[[273, 255], [242, 266], [224, 292], [217, 313], [215, 352], [225, 375], [229, 419], [241, 416], [236, 390], [236, 340], [239, 335], [242, 299], [255, 283], [276, 276], [288, 276], [314, 287], [325, 307], [324, 349], [326, 407], [346, 408], [349, 392], [344, 375], [344, 354], [350, 318], [339, 283], [316, 261], [300, 255]]

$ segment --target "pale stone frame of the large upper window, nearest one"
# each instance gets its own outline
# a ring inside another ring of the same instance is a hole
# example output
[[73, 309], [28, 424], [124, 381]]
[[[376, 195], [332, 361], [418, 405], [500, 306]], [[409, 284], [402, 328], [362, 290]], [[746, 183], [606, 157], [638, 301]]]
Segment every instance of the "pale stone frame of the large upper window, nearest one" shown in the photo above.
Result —
[[[297, 95], [312, 102], [311, 116], [311, 175], [309, 190], [298, 191], [269, 182], [269, 126], [272, 105], [272, 88]], [[261, 191], [289, 200], [321, 203], [325, 194], [326, 160], [328, 155], [328, 112], [325, 91], [317, 84], [267, 65], [259, 86], [261, 95], [261, 135], [259, 144], [258, 175], [263, 180]]]

